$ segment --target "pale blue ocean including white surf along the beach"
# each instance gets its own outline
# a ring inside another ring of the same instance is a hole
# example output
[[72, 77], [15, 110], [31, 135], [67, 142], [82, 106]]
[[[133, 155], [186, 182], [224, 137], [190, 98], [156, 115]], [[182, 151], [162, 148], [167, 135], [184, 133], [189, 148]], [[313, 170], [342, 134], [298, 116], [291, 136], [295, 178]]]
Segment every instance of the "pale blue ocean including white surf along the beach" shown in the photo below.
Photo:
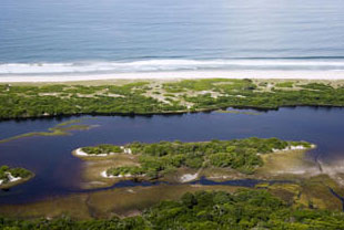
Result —
[[344, 1], [0, 1], [0, 77], [198, 70], [344, 71]]

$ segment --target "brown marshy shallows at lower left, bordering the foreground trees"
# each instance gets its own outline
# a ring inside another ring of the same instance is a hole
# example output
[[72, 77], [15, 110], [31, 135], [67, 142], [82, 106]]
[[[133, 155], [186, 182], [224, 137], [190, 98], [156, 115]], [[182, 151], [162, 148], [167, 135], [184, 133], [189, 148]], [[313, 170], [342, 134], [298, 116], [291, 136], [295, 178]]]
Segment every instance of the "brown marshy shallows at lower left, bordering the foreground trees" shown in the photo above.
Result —
[[162, 200], [176, 200], [188, 191], [224, 190], [234, 192], [239, 188], [191, 185], [117, 188], [92, 194], [54, 197], [34, 203], [1, 206], [0, 215], [24, 219], [65, 216], [73, 219], [127, 217], [140, 215], [143, 209]]

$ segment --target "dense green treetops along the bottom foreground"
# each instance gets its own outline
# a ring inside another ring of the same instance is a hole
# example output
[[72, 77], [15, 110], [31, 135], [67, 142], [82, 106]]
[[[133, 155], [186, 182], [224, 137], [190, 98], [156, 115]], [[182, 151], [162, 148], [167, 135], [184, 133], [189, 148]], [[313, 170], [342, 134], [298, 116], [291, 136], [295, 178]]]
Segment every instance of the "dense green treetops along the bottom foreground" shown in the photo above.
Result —
[[178, 201], [162, 201], [141, 216], [108, 220], [0, 218], [6, 230], [210, 230], [210, 229], [344, 229], [343, 212], [293, 208], [265, 190], [241, 189], [185, 194]]

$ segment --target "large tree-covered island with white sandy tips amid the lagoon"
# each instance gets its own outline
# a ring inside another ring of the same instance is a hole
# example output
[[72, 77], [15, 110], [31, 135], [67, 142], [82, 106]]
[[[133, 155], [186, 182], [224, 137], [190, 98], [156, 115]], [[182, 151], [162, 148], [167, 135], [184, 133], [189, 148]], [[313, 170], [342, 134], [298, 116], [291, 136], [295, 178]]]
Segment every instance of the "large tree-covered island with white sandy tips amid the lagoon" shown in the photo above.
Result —
[[113, 158], [112, 166], [111, 163], [105, 164], [107, 169], [100, 167], [104, 170], [95, 172], [101, 174], [103, 178], [164, 179], [184, 172], [179, 180], [185, 182], [199, 178], [202, 170], [226, 169], [229, 172], [252, 175], [264, 165], [263, 155], [313, 147], [314, 145], [306, 142], [251, 137], [201, 143], [176, 140], [154, 144], [130, 143], [124, 146], [99, 145], [78, 148], [73, 155], [91, 160], [97, 158], [89, 167], [101, 165], [102, 157], [107, 161], [109, 157]]

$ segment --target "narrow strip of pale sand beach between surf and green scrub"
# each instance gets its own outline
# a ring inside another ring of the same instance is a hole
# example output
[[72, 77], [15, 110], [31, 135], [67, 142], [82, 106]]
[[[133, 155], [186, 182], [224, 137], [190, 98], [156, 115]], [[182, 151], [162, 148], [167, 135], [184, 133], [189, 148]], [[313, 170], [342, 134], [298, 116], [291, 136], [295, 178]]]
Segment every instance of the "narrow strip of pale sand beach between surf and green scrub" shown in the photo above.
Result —
[[94, 75], [0, 76], [0, 83], [77, 82], [93, 80], [171, 80], [171, 79], [290, 79], [344, 80], [344, 71], [190, 71], [118, 73]]

